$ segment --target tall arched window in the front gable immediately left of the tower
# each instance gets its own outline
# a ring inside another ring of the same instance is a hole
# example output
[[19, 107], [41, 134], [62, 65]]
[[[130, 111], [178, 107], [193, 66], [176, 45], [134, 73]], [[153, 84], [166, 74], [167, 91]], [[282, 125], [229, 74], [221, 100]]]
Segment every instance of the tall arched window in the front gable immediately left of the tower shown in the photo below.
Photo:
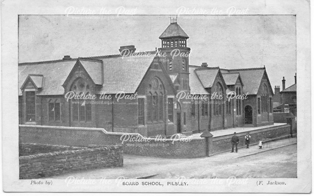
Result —
[[164, 120], [164, 87], [158, 78], [153, 78], [148, 85], [147, 121]]

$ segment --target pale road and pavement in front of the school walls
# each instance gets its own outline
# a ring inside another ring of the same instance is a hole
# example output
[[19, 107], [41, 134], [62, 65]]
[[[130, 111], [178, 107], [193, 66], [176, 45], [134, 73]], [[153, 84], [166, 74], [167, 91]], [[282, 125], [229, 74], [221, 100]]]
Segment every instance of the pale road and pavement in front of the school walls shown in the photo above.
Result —
[[124, 154], [123, 167], [103, 168], [67, 173], [48, 178], [78, 179], [141, 178], [159, 174], [152, 178], [296, 178], [296, 138], [276, 140], [263, 144], [239, 148], [238, 153], [223, 152], [211, 157], [170, 159]]

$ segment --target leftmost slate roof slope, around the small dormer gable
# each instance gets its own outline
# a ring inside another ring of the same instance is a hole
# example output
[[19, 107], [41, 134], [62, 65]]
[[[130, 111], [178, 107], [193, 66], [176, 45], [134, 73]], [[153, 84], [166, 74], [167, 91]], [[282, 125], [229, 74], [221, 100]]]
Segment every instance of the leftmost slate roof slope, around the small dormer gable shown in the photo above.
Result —
[[22, 95], [20, 90], [25, 79], [29, 74], [40, 74], [44, 77], [44, 86], [38, 95], [59, 95], [64, 93], [62, 87], [63, 82], [67, 79], [71, 69], [75, 64], [75, 60], [71, 61], [56, 61], [42, 63], [20, 63], [19, 70], [19, 95]]

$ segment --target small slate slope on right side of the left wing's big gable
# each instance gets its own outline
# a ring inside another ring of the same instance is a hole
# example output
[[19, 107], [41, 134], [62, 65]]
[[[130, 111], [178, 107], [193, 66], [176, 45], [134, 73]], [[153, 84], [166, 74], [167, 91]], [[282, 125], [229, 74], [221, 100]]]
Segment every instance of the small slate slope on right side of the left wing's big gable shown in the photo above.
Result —
[[90, 59], [78, 59], [79, 62], [83, 65], [87, 73], [89, 74], [90, 78], [94, 81], [95, 84], [102, 84], [101, 78], [101, 61], [95, 61]]

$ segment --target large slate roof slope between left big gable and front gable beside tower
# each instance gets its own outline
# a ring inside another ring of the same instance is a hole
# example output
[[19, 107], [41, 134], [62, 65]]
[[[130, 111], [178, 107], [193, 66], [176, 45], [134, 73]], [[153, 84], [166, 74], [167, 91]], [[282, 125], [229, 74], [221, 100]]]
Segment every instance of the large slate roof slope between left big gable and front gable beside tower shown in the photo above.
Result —
[[104, 83], [99, 93], [135, 93], [157, 52], [150, 55], [101, 58], [104, 64]]

